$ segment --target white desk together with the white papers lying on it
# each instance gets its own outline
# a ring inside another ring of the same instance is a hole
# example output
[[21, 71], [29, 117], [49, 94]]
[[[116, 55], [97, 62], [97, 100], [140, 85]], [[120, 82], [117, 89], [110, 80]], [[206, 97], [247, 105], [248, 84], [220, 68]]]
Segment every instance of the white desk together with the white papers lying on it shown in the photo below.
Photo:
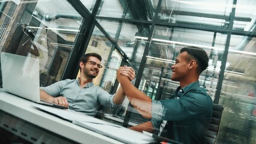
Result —
[[69, 109], [42, 106], [3, 91], [0, 110], [0, 127], [32, 143], [155, 142], [152, 137], [120, 125]]

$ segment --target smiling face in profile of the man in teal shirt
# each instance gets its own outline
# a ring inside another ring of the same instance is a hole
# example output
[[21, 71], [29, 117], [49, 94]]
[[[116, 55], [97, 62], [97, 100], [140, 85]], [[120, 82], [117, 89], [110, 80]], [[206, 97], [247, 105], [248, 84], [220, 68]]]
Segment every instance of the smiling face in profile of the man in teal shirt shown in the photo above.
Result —
[[171, 80], [180, 82], [187, 79], [189, 73], [189, 62], [187, 62], [187, 52], [181, 52], [175, 59], [175, 64], [172, 65]]

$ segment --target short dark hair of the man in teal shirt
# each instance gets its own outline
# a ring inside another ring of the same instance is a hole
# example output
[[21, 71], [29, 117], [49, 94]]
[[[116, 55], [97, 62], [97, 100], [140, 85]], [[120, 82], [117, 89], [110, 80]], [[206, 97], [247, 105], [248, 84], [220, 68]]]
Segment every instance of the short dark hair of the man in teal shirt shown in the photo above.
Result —
[[189, 47], [183, 47], [180, 50], [181, 52], [187, 52], [189, 54], [187, 58], [187, 62], [191, 61], [192, 59], [195, 59], [195, 61], [198, 64], [198, 72], [202, 73], [202, 71], [206, 70], [208, 67], [209, 63], [209, 58], [207, 56], [206, 51], [200, 47], [194, 47], [194, 46], [189, 46]]

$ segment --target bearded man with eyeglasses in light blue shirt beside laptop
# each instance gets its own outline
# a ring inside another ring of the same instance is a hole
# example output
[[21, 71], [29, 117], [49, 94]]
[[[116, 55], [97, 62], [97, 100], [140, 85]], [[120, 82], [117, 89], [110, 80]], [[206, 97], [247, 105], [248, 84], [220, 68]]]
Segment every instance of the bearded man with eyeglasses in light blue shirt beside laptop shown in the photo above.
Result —
[[[99, 74], [102, 57], [97, 53], [87, 53], [79, 61], [80, 77], [66, 79], [40, 88], [40, 97], [69, 109], [96, 116], [99, 107], [117, 108], [125, 98], [123, 89], [111, 95], [99, 86], [95, 86], [93, 79]], [[132, 67], [123, 67], [123, 76], [130, 81], [135, 78]]]

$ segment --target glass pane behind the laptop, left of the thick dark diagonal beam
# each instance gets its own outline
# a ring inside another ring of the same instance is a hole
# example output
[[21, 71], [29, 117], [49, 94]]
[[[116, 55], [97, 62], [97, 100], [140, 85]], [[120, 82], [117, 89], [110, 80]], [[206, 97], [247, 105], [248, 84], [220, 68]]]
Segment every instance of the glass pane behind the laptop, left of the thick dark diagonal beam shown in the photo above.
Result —
[[[2, 3], [1, 3], [2, 4]], [[82, 17], [67, 1], [9, 1], [2, 14], [2, 51], [40, 60], [40, 85], [61, 79]], [[11, 20], [10, 20], [11, 17]]]

